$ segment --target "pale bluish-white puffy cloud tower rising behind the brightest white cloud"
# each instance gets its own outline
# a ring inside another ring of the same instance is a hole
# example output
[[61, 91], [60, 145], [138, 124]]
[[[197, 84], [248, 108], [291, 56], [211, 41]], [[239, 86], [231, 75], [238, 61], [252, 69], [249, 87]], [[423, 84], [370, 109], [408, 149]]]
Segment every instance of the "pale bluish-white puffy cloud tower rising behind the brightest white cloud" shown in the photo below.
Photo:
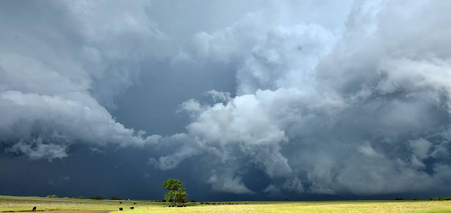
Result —
[[315, 67], [331, 51], [336, 38], [324, 27], [302, 24], [275, 27], [263, 40], [239, 68], [239, 94], [282, 87], [311, 91]]

